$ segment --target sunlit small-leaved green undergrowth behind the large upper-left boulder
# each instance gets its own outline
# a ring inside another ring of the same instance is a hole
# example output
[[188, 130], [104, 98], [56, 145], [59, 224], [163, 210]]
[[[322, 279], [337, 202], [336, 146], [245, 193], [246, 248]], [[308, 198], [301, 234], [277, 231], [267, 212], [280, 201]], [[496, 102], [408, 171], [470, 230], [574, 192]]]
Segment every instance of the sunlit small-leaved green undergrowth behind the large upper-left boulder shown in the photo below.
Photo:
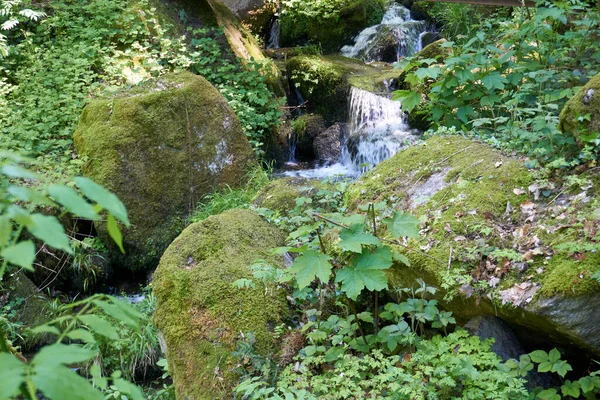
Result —
[[73, 154], [72, 133], [90, 96], [171, 71], [191, 69], [215, 85], [258, 153], [278, 123], [264, 68], [242, 65], [218, 30], [177, 36], [147, 0], [60, 0], [47, 13], [0, 68], [0, 148], [38, 158], [47, 174], [79, 172], [85, 160]]

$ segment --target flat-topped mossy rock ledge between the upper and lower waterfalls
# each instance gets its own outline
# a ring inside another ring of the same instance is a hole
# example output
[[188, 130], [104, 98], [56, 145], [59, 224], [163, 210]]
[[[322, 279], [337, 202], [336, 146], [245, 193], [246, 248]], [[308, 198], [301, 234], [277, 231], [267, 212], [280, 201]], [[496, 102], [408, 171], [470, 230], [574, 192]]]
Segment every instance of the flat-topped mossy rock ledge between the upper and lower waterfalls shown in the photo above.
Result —
[[309, 111], [327, 122], [346, 122], [351, 87], [386, 92], [400, 75], [385, 64], [365, 64], [342, 56], [298, 56], [288, 60], [287, 75], [308, 102]]

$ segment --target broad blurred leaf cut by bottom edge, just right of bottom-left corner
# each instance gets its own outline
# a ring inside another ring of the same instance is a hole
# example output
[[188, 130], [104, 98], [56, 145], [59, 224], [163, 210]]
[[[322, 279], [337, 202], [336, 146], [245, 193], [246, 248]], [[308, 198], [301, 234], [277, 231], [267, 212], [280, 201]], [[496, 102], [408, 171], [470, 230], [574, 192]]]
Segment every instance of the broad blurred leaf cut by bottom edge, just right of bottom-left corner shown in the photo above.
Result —
[[36, 364], [33, 382], [45, 397], [52, 400], [104, 399], [102, 393], [99, 390], [94, 389], [87, 379], [62, 365], [51, 363]]

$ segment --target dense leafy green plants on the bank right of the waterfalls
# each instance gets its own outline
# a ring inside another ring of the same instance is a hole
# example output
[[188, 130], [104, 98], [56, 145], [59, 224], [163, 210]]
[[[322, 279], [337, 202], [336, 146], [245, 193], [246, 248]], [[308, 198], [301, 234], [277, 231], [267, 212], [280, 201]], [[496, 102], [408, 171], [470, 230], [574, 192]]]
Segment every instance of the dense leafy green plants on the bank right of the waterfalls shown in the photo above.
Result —
[[399, 67], [405, 81], [427, 99], [421, 104], [407, 90], [396, 98], [408, 112], [424, 109], [434, 127], [471, 130], [541, 162], [589, 161], [598, 152], [595, 140], [580, 151], [572, 136], [558, 130], [558, 113], [598, 73], [598, 21], [598, 11], [585, 3], [543, 1], [531, 16], [521, 10], [513, 18], [486, 20], [469, 40], [442, 44], [454, 52], [443, 65], [404, 60]]

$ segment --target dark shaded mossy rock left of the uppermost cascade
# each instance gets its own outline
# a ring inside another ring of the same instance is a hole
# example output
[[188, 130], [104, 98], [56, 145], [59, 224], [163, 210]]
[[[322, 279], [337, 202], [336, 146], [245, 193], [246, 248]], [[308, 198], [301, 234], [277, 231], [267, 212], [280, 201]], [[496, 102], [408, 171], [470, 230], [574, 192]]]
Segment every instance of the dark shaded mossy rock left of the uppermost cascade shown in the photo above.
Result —
[[313, 13], [289, 12], [284, 8], [281, 45], [314, 43], [320, 44], [326, 53], [334, 53], [364, 28], [378, 24], [383, 13], [383, 0], [346, 0], [339, 9]]

